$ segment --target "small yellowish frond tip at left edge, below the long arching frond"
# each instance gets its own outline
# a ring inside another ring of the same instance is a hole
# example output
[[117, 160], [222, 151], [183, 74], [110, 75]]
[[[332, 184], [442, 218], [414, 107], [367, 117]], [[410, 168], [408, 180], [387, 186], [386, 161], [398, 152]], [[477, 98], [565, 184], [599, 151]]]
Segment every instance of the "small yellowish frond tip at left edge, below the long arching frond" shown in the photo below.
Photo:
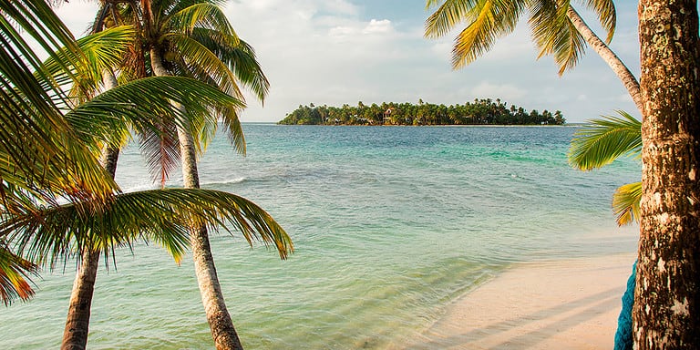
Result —
[[29, 276], [36, 275], [36, 269], [34, 263], [15, 255], [0, 243], [0, 301], [5, 306], [16, 299], [27, 301], [34, 295]]

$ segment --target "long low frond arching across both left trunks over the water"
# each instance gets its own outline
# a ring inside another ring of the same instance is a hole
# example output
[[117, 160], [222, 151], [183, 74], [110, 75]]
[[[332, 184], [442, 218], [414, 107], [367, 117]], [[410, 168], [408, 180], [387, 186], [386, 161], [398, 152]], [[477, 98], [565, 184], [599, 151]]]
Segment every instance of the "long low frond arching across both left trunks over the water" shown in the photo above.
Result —
[[[230, 224], [230, 226], [227, 226]], [[3, 218], [0, 238], [28, 260], [55, 267], [87, 247], [110, 252], [135, 240], [157, 242], [179, 260], [189, 244], [189, 228], [207, 225], [241, 232], [245, 240], [274, 245], [282, 259], [291, 239], [252, 201], [218, 190], [163, 189], [122, 193], [104, 211], [88, 215], [73, 203], [26, 208]]]

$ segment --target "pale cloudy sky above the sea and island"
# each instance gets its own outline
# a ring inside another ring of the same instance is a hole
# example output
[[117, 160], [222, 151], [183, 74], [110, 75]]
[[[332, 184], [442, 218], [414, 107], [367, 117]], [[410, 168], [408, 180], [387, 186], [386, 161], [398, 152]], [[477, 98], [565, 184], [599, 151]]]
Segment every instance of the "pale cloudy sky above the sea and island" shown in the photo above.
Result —
[[[229, 0], [225, 12], [256, 50], [271, 90], [264, 107], [248, 98], [242, 121], [278, 121], [299, 105], [381, 102], [457, 104], [500, 98], [526, 109], [560, 109], [582, 122], [624, 109], [638, 115], [612, 70], [592, 50], [558, 76], [551, 57], [537, 60], [527, 23], [472, 65], [454, 71], [456, 33], [423, 37], [425, 0]], [[612, 50], [639, 77], [636, 5], [616, 1]], [[95, 13], [74, 0], [59, 15], [81, 36]], [[594, 18], [582, 10], [593, 28]], [[603, 36], [597, 30], [599, 36]]]

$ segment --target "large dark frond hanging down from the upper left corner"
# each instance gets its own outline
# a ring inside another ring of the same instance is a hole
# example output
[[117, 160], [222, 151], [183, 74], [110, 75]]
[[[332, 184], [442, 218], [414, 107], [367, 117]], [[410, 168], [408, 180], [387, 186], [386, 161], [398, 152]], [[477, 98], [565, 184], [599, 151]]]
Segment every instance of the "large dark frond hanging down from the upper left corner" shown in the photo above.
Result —
[[[66, 104], [67, 96], [25, 40], [31, 37], [49, 57], [57, 58], [55, 51], [62, 46], [78, 57], [73, 37], [44, 2], [1, 0], [0, 12], [2, 195], [9, 190], [5, 181], [13, 180], [18, 188], [36, 195], [106, 200], [116, 184], [105, 179], [88, 149], [77, 142], [56, 106]], [[59, 68], [70, 72], [67, 66]]]

